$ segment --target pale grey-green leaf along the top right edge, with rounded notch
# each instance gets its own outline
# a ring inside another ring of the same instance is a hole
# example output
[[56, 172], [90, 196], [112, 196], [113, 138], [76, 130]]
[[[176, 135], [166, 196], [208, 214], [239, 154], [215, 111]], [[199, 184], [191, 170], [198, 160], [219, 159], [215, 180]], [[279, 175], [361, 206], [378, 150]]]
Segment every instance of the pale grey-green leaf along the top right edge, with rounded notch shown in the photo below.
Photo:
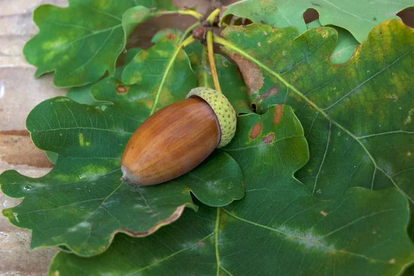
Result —
[[362, 42], [375, 25], [398, 18], [397, 12], [408, 7], [414, 7], [413, 1], [246, 0], [227, 6], [221, 16], [221, 24], [230, 23], [232, 15], [235, 15], [275, 28], [293, 26], [302, 34], [306, 31], [303, 14], [308, 8], [313, 8], [319, 13], [319, 21], [323, 26], [335, 25], [344, 28], [357, 41]]

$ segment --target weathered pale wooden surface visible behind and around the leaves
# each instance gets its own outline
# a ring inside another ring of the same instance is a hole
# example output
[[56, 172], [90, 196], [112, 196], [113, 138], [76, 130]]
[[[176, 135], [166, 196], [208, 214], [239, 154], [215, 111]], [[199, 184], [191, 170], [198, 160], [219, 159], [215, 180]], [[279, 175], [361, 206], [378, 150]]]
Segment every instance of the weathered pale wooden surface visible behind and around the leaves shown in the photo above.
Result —
[[[182, 7], [197, 6], [199, 12], [210, 9], [211, 0], [173, 0]], [[222, 1], [225, 4], [235, 0]], [[0, 0], [0, 173], [17, 170], [23, 175], [41, 177], [50, 171], [52, 164], [42, 150], [31, 142], [26, 131], [28, 113], [41, 101], [65, 95], [67, 90], [52, 84], [52, 75], [34, 79], [35, 69], [26, 63], [22, 49], [24, 43], [37, 33], [32, 23], [32, 12], [43, 3], [66, 6], [66, 0]], [[308, 17], [315, 12], [308, 12]], [[406, 15], [414, 26], [414, 12]], [[307, 20], [309, 21], [309, 20]], [[150, 38], [160, 28], [184, 30], [193, 23], [192, 18], [168, 16], [161, 21], [152, 19], [139, 26], [133, 34], [137, 46], [148, 47]], [[132, 41], [132, 42], [135, 42]], [[0, 193], [0, 211], [19, 204]], [[45, 275], [55, 248], [41, 248], [30, 252], [30, 231], [12, 226], [0, 216], [0, 276]]]

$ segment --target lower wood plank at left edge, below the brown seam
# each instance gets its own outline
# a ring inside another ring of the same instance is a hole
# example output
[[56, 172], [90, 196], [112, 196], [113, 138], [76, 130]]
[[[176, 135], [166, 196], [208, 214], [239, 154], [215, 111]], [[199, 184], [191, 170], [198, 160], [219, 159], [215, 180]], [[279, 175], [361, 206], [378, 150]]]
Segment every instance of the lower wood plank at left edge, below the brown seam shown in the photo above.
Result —
[[[43, 150], [34, 146], [26, 130], [0, 131], [0, 172], [14, 169], [31, 177], [41, 177], [52, 168]], [[0, 212], [17, 206], [21, 199], [0, 193]], [[56, 248], [30, 252], [30, 230], [12, 226], [0, 216], [0, 275], [33, 275], [46, 273]]]

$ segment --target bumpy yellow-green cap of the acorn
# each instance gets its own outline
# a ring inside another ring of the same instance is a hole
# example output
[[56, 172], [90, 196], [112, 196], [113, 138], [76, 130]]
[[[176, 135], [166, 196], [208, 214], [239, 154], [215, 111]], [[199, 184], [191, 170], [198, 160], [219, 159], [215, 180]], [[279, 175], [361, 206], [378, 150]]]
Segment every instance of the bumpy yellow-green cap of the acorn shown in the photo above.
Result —
[[200, 97], [204, 99], [215, 112], [221, 130], [220, 142], [217, 148], [221, 148], [230, 143], [236, 132], [236, 112], [231, 106], [230, 101], [221, 93], [208, 87], [197, 87], [188, 93], [186, 99], [190, 97]]

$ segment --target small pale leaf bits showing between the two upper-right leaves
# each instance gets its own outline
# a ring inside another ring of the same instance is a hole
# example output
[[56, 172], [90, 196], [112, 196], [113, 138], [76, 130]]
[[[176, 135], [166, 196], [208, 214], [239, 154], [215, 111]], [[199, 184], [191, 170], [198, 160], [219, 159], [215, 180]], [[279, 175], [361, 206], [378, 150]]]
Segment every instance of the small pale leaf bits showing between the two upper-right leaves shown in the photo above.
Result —
[[[322, 27], [322, 25], [319, 22], [319, 19], [306, 24], [306, 28], [308, 30], [320, 27]], [[332, 51], [331, 57], [329, 57], [329, 60], [333, 63], [344, 63], [352, 57], [355, 52], [355, 48], [357, 48], [359, 43], [357, 39], [353, 37], [351, 32], [336, 26], [331, 26], [331, 28], [334, 28], [338, 32], [338, 41], [335, 49]]]

